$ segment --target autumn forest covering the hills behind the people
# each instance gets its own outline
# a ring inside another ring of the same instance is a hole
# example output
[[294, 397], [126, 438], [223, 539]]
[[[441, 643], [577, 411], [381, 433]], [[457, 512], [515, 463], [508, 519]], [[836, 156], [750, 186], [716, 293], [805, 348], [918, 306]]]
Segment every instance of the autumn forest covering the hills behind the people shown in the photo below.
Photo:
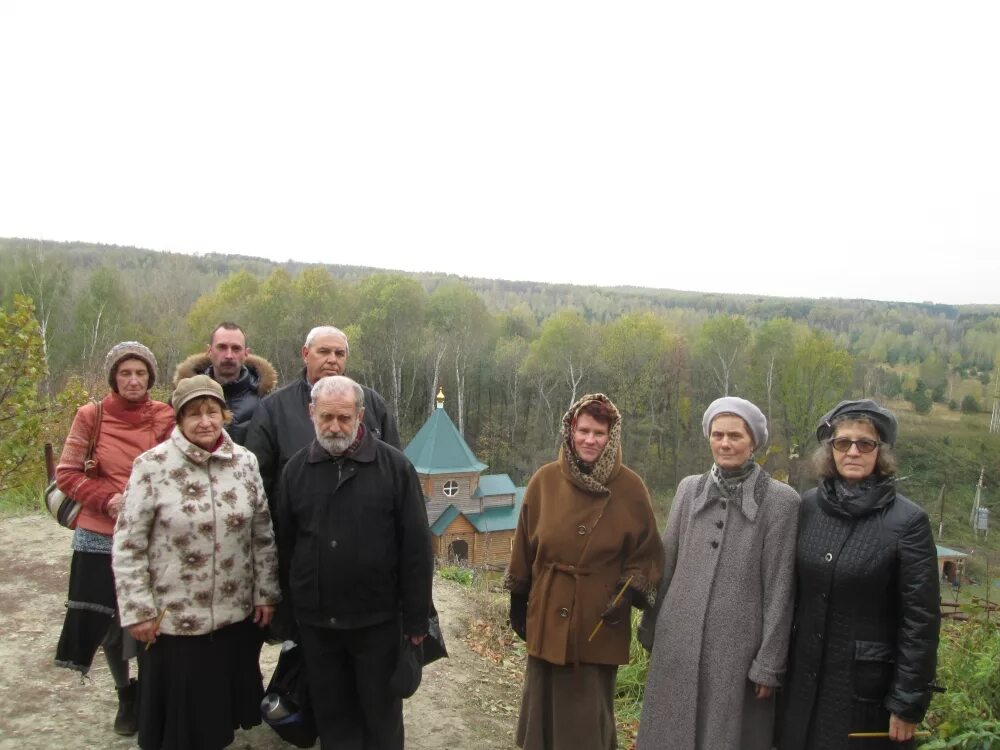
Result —
[[0, 258], [0, 495], [41, 482], [41, 443], [58, 445], [75, 406], [104, 391], [112, 344], [154, 351], [154, 395], [165, 399], [174, 367], [223, 320], [246, 329], [281, 382], [299, 377], [306, 332], [337, 325], [350, 339], [348, 374], [382, 394], [404, 441], [443, 388], [473, 450], [518, 483], [554, 457], [560, 417], [593, 391], [618, 404], [625, 461], [658, 502], [708, 468], [701, 414], [724, 394], [761, 406], [772, 437], [757, 460], [800, 489], [812, 481], [818, 418], [841, 398], [886, 401], [902, 423], [905, 491], [935, 518], [948, 501], [941, 521], [955, 544], [974, 540], [959, 522], [980, 469], [987, 506], [1000, 483], [990, 432], [1000, 306], [551, 285], [390, 273], [346, 256], [275, 263], [19, 239], [0, 239]]

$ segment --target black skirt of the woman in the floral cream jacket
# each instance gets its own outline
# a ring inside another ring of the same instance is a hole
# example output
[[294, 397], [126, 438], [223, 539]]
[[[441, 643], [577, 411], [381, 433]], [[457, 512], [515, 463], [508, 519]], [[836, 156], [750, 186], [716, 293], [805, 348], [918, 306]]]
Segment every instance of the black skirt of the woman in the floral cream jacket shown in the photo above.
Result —
[[139, 651], [139, 747], [219, 750], [260, 724], [260, 632], [251, 620], [207, 635], [158, 635]]

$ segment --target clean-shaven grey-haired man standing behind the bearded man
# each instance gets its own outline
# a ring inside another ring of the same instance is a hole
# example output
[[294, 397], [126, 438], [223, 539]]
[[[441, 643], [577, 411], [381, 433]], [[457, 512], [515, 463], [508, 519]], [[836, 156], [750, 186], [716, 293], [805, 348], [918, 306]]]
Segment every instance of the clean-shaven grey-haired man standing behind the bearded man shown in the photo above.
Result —
[[[308, 445], [315, 431], [309, 419], [309, 391], [327, 375], [343, 375], [350, 347], [347, 336], [333, 326], [313, 328], [302, 347], [305, 367], [302, 377], [261, 401], [250, 421], [246, 447], [257, 455], [264, 490], [271, 498], [281, 470], [300, 448]], [[371, 388], [361, 386], [365, 397], [364, 424], [374, 437], [394, 448], [402, 448], [396, 419]], [[274, 505], [271, 506], [272, 514]]]

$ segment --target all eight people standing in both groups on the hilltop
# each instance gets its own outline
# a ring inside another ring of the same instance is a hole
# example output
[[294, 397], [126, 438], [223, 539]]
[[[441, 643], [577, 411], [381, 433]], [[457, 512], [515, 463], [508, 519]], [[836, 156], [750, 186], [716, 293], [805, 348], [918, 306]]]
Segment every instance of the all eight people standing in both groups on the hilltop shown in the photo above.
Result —
[[[140, 747], [214, 750], [258, 724], [269, 627], [305, 653], [324, 748], [403, 747], [389, 685], [427, 634], [430, 531], [395, 420], [344, 376], [348, 356], [342, 331], [315, 328], [300, 377], [274, 390], [223, 323], [167, 405], [149, 396], [147, 347], [108, 352], [111, 391], [79, 409], [57, 467], [82, 510], [56, 663], [86, 674], [103, 647], [114, 729]], [[650, 651], [642, 750], [832, 750], [855, 732], [912, 746], [934, 689], [938, 573], [926, 514], [895, 489], [894, 415], [870, 400], [827, 413], [801, 499], [754, 459], [757, 406], [719, 398], [702, 427], [712, 465], [680, 482], [661, 536], [614, 403], [566, 412], [504, 581], [528, 651], [518, 746], [617, 746], [633, 608]]]

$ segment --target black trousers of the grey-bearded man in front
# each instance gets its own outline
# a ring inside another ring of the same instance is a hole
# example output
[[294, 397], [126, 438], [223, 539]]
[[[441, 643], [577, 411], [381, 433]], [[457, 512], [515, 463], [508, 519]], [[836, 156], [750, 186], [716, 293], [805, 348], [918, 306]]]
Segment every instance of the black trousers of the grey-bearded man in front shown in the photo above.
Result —
[[299, 624], [323, 750], [403, 750], [403, 701], [389, 692], [399, 620], [335, 630]]

